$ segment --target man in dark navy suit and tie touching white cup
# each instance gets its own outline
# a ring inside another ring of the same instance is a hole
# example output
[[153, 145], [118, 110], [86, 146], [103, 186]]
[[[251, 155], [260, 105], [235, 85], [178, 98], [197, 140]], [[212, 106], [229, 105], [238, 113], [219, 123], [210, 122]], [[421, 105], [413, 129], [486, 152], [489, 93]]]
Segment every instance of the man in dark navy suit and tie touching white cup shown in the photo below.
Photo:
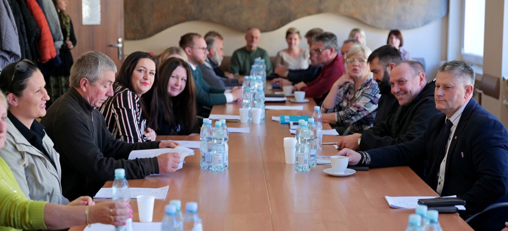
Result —
[[508, 201], [508, 132], [472, 99], [474, 71], [464, 61], [439, 67], [434, 94], [437, 113], [416, 139], [366, 152], [341, 150], [350, 164], [371, 167], [428, 161], [425, 182], [440, 196], [466, 201], [466, 218]]

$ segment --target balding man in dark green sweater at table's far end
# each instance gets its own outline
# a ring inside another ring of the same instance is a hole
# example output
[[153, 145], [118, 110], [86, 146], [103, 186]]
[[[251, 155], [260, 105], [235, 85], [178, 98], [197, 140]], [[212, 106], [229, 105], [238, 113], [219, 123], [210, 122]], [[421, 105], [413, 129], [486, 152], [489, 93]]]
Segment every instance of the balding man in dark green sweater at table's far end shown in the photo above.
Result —
[[261, 38], [261, 31], [256, 28], [250, 28], [245, 34], [245, 41], [247, 45], [235, 50], [231, 57], [231, 63], [229, 64], [229, 71], [234, 75], [249, 75], [250, 66], [254, 64], [254, 60], [257, 57], [265, 60], [266, 74], [270, 74], [273, 71], [272, 62], [270, 62], [270, 56], [266, 50], [258, 47], [259, 40]]

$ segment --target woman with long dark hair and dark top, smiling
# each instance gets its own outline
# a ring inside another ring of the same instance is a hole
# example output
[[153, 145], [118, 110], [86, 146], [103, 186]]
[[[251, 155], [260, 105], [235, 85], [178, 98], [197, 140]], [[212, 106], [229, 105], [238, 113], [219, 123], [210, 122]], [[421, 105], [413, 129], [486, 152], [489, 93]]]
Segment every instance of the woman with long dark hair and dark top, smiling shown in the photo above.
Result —
[[159, 73], [157, 135], [188, 135], [196, 123], [196, 86], [190, 67], [182, 59], [170, 57], [163, 61]]

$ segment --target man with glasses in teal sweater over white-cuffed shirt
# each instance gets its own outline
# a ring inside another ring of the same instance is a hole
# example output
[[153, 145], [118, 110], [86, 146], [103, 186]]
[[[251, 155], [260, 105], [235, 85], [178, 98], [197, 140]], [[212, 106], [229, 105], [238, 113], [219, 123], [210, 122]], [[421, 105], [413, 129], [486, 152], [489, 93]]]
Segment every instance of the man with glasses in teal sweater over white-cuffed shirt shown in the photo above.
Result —
[[225, 104], [242, 98], [241, 89], [226, 90], [212, 88], [203, 79], [203, 74], [198, 65], [205, 63], [206, 50], [205, 39], [197, 33], [187, 33], [180, 38], [180, 47], [188, 57], [194, 84], [196, 85], [196, 111], [198, 116], [208, 118], [210, 108], [213, 105]]

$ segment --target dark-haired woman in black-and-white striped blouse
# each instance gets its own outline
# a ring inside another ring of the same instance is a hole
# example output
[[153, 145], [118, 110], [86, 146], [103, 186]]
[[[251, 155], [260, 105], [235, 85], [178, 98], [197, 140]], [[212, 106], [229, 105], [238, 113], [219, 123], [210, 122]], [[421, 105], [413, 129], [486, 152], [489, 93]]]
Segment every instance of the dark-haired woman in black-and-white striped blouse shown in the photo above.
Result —
[[[152, 55], [136, 51], [123, 61], [114, 83], [114, 93], [99, 108], [109, 131], [129, 143], [155, 141], [157, 64]], [[153, 98], [153, 99], [152, 99]], [[147, 103], [148, 102], [148, 103]]]

